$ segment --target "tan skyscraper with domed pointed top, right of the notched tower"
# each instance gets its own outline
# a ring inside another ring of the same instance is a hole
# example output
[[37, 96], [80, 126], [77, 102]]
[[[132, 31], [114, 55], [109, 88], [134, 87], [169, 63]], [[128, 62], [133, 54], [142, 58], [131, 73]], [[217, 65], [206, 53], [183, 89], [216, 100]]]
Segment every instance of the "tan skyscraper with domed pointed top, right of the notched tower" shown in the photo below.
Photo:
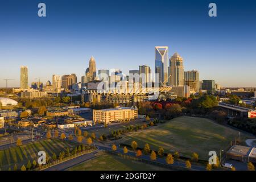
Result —
[[184, 67], [183, 59], [175, 52], [170, 58], [170, 86], [183, 86], [184, 85]]

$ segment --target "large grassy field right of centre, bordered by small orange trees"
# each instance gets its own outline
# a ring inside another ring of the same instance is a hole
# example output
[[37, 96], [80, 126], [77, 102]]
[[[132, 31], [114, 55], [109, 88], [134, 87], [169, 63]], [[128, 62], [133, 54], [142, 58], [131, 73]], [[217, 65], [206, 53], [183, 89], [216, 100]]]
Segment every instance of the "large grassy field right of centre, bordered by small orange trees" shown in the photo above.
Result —
[[[208, 159], [209, 151], [225, 150], [230, 141], [238, 138], [238, 131], [214, 123], [210, 119], [195, 117], [178, 117], [158, 126], [127, 134], [121, 143], [130, 144], [137, 141], [138, 147], [150, 144], [152, 150], [163, 147], [165, 152], [178, 151], [183, 156], [199, 154], [200, 159]], [[244, 133], [240, 139], [251, 138]]]

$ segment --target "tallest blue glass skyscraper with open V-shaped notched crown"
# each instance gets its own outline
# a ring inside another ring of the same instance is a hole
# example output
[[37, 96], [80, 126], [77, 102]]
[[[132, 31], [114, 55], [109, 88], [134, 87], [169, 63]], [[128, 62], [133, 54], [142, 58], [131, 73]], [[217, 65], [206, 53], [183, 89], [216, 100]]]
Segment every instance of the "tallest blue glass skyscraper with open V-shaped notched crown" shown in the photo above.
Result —
[[155, 73], [160, 86], [168, 85], [168, 46], [155, 47]]

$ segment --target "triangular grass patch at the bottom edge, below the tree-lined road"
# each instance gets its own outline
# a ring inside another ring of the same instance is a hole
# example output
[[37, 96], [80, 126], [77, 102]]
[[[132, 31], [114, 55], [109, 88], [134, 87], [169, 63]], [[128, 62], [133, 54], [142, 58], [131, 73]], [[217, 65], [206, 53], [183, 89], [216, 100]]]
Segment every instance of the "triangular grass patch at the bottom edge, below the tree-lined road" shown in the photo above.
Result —
[[131, 171], [131, 170], [167, 170], [166, 168], [160, 168], [137, 162], [130, 159], [123, 159], [120, 156], [104, 154], [88, 160], [84, 163], [78, 164], [77, 166], [71, 167], [69, 171]]

